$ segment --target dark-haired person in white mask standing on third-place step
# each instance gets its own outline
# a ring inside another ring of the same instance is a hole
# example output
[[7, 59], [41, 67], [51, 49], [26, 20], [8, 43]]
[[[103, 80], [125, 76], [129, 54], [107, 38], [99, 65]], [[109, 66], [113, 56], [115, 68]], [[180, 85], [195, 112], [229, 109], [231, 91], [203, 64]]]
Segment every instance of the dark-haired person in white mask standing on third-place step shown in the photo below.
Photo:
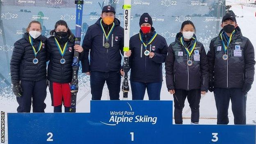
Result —
[[201, 94], [208, 91], [208, 62], [203, 44], [197, 41], [195, 26], [184, 21], [176, 41], [168, 48], [165, 61], [166, 85], [174, 96], [174, 119], [182, 124], [185, 99], [191, 108], [191, 124], [199, 123]]

